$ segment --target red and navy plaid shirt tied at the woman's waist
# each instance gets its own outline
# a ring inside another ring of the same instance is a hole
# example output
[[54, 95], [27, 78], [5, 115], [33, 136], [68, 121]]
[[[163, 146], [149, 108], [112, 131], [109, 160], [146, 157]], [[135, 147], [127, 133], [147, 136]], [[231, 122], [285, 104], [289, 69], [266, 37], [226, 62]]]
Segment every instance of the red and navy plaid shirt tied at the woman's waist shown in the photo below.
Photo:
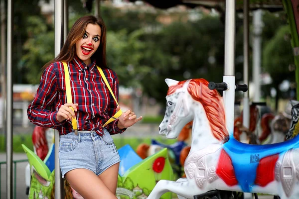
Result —
[[[73, 103], [78, 103], [75, 112], [79, 130], [96, 131], [103, 135], [102, 125], [116, 113], [117, 104], [102, 79], [95, 61], [87, 66], [77, 56], [67, 63], [71, 81]], [[118, 78], [114, 71], [104, 68], [103, 72], [118, 100]], [[58, 109], [67, 103], [64, 69], [62, 62], [49, 65], [42, 74], [34, 100], [28, 106], [29, 120], [38, 126], [57, 129], [60, 135], [73, 132], [72, 122], [56, 119]], [[117, 127], [118, 119], [106, 128], [110, 134], [125, 131]]]

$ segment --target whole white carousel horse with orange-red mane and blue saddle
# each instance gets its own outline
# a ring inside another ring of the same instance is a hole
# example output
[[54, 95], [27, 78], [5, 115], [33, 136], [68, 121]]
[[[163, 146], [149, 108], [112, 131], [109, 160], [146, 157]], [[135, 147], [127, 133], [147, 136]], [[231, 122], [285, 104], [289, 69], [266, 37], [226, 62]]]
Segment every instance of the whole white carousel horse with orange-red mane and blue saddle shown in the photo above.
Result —
[[221, 96], [208, 89], [206, 80], [165, 82], [167, 107], [159, 134], [174, 139], [193, 120], [192, 144], [184, 164], [187, 178], [160, 180], [148, 199], [159, 199], [166, 192], [193, 199], [211, 190], [299, 199], [299, 136], [270, 145], [238, 142], [227, 131]]

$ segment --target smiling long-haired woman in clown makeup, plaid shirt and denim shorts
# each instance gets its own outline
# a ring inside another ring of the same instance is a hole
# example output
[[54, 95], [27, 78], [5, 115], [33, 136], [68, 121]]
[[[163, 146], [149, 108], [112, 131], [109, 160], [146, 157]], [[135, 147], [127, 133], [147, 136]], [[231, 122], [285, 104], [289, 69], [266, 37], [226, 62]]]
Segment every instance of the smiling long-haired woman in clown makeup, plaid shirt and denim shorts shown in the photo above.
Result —
[[[63, 62], [69, 71], [72, 101], [67, 103]], [[99, 66], [118, 98], [118, 79], [106, 64], [106, 27], [102, 18], [83, 16], [71, 28], [59, 55], [43, 67], [29, 120], [60, 133], [59, 161], [66, 178], [84, 199], [116, 199], [120, 157], [110, 134], [140, 121], [131, 110], [103, 124], [120, 110]], [[72, 110], [73, 109], [73, 110]], [[72, 126], [76, 118], [78, 132]]]

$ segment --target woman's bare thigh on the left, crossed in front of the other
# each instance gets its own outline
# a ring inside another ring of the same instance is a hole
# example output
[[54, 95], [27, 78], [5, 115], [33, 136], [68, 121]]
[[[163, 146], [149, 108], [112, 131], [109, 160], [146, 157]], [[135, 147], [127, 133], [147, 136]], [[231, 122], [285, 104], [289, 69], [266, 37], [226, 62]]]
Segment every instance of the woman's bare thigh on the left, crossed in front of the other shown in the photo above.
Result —
[[71, 170], [65, 178], [84, 199], [116, 199], [105, 183], [88, 169]]

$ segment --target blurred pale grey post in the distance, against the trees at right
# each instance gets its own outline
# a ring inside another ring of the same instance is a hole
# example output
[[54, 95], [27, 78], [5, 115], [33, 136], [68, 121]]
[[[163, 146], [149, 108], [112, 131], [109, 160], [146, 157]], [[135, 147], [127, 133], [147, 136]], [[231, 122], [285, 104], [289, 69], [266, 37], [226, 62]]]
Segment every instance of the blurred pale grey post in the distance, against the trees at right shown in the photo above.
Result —
[[253, 82], [255, 86], [254, 101], [260, 101], [261, 98], [261, 46], [262, 46], [262, 10], [256, 10], [253, 13]]

